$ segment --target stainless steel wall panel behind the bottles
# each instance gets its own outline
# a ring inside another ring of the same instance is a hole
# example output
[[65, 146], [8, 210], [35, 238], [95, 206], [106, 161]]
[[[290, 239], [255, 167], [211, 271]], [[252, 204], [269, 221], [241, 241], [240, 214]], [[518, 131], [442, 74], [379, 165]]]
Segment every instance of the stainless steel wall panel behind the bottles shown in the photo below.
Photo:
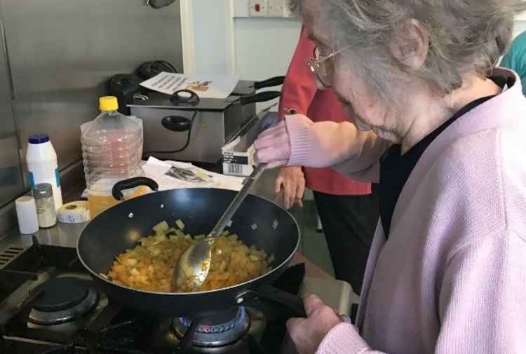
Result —
[[180, 4], [169, 3], [0, 0], [0, 235], [29, 190], [29, 135], [50, 135], [65, 191], [82, 182], [79, 125], [97, 116], [108, 79], [159, 59], [182, 71]]

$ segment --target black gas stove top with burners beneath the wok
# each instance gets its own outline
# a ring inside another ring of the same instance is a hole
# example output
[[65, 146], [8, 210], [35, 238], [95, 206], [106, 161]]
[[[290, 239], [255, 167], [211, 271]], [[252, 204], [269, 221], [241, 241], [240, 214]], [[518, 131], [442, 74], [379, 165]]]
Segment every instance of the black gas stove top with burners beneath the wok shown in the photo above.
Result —
[[[76, 258], [82, 227], [0, 240], [0, 353], [180, 353], [189, 320], [140, 313], [97, 289]], [[275, 285], [315, 291], [340, 313], [350, 307], [348, 284], [304, 277], [302, 266]], [[284, 341], [286, 319], [269, 304], [214, 313], [186, 339], [192, 350], [184, 353], [294, 353]]]

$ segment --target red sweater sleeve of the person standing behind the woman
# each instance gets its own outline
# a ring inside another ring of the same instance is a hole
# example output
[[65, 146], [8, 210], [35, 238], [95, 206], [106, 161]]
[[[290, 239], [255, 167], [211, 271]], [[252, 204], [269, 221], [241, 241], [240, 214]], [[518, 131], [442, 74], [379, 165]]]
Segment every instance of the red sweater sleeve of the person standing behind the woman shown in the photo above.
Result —
[[294, 109], [300, 114], [307, 114], [309, 110], [318, 88], [316, 88], [316, 80], [305, 61], [312, 57], [314, 47], [315, 45], [309, 40], [306, 30], [302, 28], [299, 42], [281, 88], [281, 100], [279, 102], [279, 116], [281, 117], [286, 114], [285, 109]]

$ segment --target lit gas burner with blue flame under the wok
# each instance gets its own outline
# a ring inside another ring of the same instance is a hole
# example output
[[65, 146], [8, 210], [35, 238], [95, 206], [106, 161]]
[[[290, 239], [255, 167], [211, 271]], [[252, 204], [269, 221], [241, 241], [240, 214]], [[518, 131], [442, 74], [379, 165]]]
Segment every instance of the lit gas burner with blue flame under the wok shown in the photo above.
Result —
[[[243, 306], [208, 315], [199, 320], [192, 343], [200, 347], [222, 347], [234, 343], [247, 334], [250, 317]], [[175, 334], [182, 339], [191, 327], [188, 318], [175, 318], [172, 322]]]

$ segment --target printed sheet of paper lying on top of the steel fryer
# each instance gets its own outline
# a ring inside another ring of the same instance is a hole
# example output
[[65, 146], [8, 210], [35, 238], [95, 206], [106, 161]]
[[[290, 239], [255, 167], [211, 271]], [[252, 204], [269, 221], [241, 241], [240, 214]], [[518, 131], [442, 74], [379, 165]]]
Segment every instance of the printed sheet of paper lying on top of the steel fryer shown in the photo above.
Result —
[[141, 86], [160, 93], [172, 95], [177, 90], [192, 90], [201, 98], [227, 98], [238, 79], [233, 75], [174, 74], [161, 72], [141, 83]]

